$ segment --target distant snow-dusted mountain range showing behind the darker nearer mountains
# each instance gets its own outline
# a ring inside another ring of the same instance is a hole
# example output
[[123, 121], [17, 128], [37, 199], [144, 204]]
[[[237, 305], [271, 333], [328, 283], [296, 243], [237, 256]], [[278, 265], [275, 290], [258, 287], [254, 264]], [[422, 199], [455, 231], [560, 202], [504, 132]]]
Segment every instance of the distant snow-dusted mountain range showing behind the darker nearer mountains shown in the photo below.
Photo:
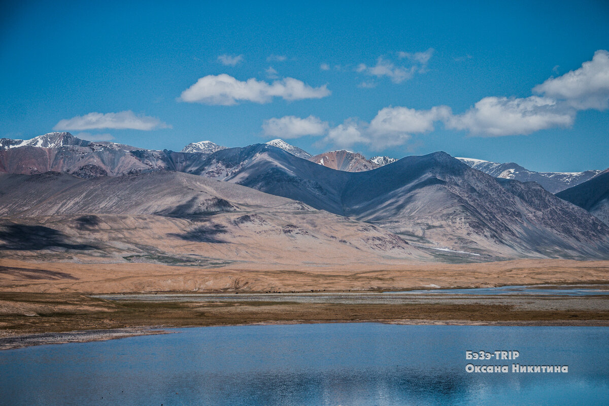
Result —
[[[373, 156], [367, 159], [360, 153], [346, 150], [325, 152], [312, 156], [303, 149], [290, 145], [282, 139], [273, 139], [267, 145], [283, 149], [298, 158], [308, 159], [331, 169], [345, 172], [362, 172], [376, 169], [395, 162], [389, 156]], [[63, 150], [59, 156], [29, 150], [9, 151], [21, 147], [38, 147]], [[78, 149], [77, 147], [88, 148]], [[145, 172], [147, 170], [178, 170], [188, 172], [201, 155], [210, 155], [222, 149], [222, 145], [211, 141], [191, 142], [179, 153], [163, 150], [146, 150], [114, 142], [91, 142], [76, 138], [70, 133], [48, 133], [28, 140], [0, 139], [0, 171], [7, 173], [43, 173], [48, 170], [74, 173], [77, 176], [94, 177], [99, 175], [117, 176], [125, 173]], [[4, 152], [3, 152], [4, 151]], [[72, 154], [70, 153], [72, 152]], [[197, 156], [181, 154], [199, 154]], [[15, 156], [18, 155], [18, 156]], [[44, 156], [48, 155], [48, 156]], [[74, 155], [74, 156], [70, 156]], [[68, 159], [66, 159], [68, 158]], [[134, 158], [134, 159], [132, 159]], [[590, 180], [601, 170], [584, 172], [534, 172], [516, 163], [495, 163], [474, 158], [457, 158], [474, 169], [488, 173], [492, 177], [514, 179], [523, 182], [537, 182], [551, 193], [557, 193], [577, 184]], [[79, 166], [80, 165], [80, 166]]]

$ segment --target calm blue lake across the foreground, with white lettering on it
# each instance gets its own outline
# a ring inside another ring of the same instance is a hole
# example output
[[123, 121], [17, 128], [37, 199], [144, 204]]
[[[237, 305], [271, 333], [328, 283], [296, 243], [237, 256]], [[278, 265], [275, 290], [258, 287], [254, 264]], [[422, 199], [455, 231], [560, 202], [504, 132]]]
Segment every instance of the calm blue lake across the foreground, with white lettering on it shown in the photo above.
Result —
[[[1, 351], [0, 404], [609, 404], [608, 327], [347, 323], [173, 331]], [[569, 365], [569, 373], [465, 372], [466, 350], [501, 349], [518, 350], [521, 365]]]

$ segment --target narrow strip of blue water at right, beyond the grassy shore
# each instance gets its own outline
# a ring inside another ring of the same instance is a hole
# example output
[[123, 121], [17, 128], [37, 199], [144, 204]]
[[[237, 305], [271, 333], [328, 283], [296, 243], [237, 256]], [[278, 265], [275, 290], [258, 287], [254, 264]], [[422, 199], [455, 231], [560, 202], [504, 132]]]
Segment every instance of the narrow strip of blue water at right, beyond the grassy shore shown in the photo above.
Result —
[[558, 295], [558, 296], [593, 296], [609, 295], [609, 289], [600, 289], [597, 285], [564, 285], [560, 287], [540, 287], [540, 285], [511, 285], [499, 287], [477, 287], [470, 289], [421, 289], [404, 290], [385, 293], [427, 294], [440, 293], [443, 295]]

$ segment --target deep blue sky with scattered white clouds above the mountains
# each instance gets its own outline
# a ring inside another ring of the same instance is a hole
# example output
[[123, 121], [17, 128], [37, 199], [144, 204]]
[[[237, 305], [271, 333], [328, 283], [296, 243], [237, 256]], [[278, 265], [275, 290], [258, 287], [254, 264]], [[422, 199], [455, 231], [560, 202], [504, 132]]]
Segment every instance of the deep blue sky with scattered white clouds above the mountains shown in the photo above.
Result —
[[2, 3], [0, 137], [609, 167], [606, 1], [86, 3]]

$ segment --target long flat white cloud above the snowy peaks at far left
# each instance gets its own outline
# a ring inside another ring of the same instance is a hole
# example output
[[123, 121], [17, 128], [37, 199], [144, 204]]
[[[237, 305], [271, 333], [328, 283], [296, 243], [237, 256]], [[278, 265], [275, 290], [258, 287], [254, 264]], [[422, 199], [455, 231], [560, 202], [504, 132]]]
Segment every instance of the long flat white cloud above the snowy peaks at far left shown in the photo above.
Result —
[[58, 122], [54, 130], [97, 130], [99, 128], [113, 128], [115, 130], [154, 130], [155, 128], [171, 128], [156, 117], [136, 116], [133, 111], [120, 111], [119, 113], [89, 113]]

